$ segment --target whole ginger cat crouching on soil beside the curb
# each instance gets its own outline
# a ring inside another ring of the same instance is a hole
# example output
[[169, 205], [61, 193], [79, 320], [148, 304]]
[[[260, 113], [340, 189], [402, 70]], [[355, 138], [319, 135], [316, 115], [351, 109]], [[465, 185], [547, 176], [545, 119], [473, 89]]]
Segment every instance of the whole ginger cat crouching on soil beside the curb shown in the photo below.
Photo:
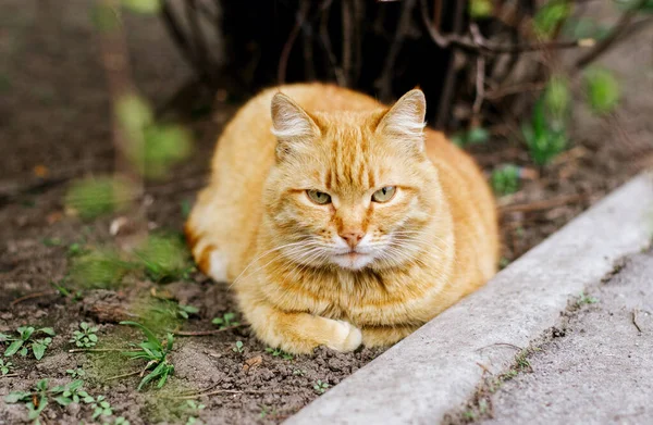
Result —
[[291, 353], [392, 345], [494, 275], [492, 193], [424, 112], [418, 89], [389, 109], [297, 84], [226, 126], [186, 235], [259, 339]]

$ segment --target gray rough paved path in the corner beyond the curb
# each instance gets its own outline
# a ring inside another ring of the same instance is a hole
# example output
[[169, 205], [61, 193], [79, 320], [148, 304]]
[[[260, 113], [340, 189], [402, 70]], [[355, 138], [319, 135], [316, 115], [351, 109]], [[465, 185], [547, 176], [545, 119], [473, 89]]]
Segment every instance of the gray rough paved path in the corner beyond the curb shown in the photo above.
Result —
[[504, 384], [483, 424], [653, 424], [653, 253], [588, 295], [596, 303], [530, 359], [533, 373]]

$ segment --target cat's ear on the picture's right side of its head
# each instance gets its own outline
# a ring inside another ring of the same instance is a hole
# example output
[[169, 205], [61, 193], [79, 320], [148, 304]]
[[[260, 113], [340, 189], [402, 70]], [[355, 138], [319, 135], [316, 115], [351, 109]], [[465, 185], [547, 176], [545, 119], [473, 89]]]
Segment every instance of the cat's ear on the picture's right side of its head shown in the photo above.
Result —
[[424, 116], [427, 99], [420, 89], [414, 89], [402, 96], [385, 113], [377, 127], [377, 132], [397, 137], [407, 142], [416, 142], [423, 147]]

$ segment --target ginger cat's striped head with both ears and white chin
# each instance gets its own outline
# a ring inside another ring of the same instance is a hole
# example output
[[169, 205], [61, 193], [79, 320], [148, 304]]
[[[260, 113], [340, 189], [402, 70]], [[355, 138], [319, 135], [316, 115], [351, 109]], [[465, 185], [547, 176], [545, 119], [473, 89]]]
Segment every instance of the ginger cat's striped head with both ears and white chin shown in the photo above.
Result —
[[341, 113], [307, 112], [275, 95], [264, 202], [279, 254], [352, 271], [417, 261], [433, 242], [423, 230], [440, 197], [424, 113], [417, 89], [391, 109]]

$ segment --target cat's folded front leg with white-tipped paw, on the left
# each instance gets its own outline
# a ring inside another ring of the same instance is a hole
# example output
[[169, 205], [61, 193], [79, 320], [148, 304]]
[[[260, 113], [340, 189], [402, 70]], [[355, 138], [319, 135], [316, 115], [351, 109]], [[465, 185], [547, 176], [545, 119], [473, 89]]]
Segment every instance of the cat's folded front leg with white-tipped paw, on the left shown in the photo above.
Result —
[[360, 329], [348, 322], [303, 312], [285, 312], [262, 299], [242, 298], [241, 303], [257, 337], [289, 353], [312, 353], [318, 346], [353, 351], [362, 340]]

